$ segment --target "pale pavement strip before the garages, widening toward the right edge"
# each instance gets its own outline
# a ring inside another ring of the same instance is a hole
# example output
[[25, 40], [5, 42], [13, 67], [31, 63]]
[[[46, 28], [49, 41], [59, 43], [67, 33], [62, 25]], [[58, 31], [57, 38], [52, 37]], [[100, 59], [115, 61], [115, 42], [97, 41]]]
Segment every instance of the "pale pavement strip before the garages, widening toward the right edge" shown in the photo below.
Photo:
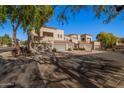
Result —
[[124, 61], [124, 53], [113, 52], [113, 51], [96, 51], [93, 50], [92, 52], [88, 51], [66, 51], [65, 53], [69, 53], [71, 55], [90, 55], [94, 57], [100, 57], [103, 59], [114, 60], [117, 62]]

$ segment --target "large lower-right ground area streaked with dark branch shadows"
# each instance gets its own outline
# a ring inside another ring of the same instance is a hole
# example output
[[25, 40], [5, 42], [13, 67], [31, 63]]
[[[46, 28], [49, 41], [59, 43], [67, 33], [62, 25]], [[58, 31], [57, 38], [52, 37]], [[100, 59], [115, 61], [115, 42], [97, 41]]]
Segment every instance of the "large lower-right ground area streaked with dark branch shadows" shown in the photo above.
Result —
[[123, 87], [119, 86], [124, 76], [122, 64], [91, 55], [57, 57], [60, 54], [52, 55], [46, 69], [44, 64], [39, 66], [45, 87]]

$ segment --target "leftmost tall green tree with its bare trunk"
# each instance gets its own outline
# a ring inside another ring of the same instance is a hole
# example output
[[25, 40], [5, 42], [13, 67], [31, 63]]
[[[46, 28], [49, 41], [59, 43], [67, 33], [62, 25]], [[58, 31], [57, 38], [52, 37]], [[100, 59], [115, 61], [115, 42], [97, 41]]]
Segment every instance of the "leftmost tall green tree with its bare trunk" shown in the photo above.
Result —
[[10, 21], [10, 25], [12, 27], [13, 45], [18, 50], [18, 54], [19, 54], [20, 46], [17, 41], [16, 33], [22, 21], [21, 6], [16, 6], [16, 5], [0, 6], [0, 18], [1, 18], [0, 21], [1, 24]]

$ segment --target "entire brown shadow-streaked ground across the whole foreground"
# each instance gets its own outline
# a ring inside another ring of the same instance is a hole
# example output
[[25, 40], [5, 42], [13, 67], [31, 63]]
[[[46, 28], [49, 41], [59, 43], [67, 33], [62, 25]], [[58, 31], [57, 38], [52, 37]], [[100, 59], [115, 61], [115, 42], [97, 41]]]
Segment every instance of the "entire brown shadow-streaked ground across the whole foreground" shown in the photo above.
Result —
[[34, 57], [8, 58], [1, 54], [0, 87], [124, 87], [124, 54], [121, 53], [45, 53], [40, 61], [44, 63], [35, 61]]

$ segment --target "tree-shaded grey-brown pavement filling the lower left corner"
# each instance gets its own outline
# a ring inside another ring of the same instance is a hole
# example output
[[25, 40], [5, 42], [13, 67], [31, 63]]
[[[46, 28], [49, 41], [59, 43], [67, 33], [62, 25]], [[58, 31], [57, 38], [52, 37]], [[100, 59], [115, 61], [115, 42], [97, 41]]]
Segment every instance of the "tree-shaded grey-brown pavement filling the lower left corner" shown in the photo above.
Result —
[[0, 58], [0, 87], [43, 87], [42, 83], [37, 63], [31, 59]]

